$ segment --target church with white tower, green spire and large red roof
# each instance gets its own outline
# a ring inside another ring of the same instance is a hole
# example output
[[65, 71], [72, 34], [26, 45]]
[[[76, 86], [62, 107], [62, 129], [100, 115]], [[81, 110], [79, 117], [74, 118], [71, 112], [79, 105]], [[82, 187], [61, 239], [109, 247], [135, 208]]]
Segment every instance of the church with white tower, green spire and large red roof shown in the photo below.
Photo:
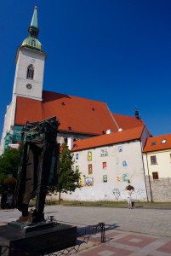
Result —
[[105, 102], [43, 90], [47, 55], [38, 40], [37, 7], [28, 33], [15, 56], [14, 89], [4, 118], [0, 154], [9, 146], [18, 147], [27, 122], [53, 116], [60, 122], [58, 143], [66, 142], [70, 149], [74, 141], [144, 126], [137, 113], [134, 117], [111, 113]]

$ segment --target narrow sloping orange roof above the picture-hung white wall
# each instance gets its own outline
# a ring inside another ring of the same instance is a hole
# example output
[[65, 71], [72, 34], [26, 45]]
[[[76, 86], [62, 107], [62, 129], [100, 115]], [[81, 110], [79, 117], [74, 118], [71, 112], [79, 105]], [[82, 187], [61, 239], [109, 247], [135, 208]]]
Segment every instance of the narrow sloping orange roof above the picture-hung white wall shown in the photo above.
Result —
[[129, 142], [136, 139], [140, 139], [144, 130], [144, 125], [128, 129], [125, 131], [117, 131], [111, 134], [105, 134], [98, 137], [91, 137], [83, 139], [81, 141], [74, 142], [72, 151], [83, 150], [88, 148], [97, 148], [100, 146], [106, 146], [115, 143]]

